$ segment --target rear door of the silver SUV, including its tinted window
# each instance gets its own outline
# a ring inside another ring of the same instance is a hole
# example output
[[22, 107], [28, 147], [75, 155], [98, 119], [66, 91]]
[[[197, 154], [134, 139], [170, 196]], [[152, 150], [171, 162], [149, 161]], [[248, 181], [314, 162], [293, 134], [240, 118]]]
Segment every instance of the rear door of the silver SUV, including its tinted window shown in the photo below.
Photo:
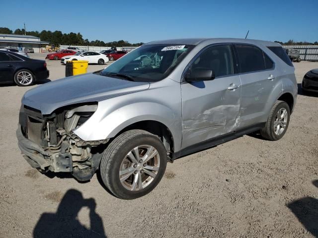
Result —
[[235, 44], [241, 81], [238, 128], [263, 122], [265, 106], [275, 80], [275, 64], [258, 47]]

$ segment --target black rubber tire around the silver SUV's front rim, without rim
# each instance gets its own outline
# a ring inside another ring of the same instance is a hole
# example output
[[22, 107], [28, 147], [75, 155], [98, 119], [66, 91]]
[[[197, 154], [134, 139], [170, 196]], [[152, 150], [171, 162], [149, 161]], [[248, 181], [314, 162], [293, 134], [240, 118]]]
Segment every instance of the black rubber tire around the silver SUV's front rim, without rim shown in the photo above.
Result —
[[[156, 148], [160, 161], [159, 170], [157, 176], [148, 186], [141, 190], [131, 191], [121, 183], [119, 171], [127, 154], [136, 146], [141, 145], [150, 145]], [[116, 137], [105, 149], [100, 162], [100, 175], [106, 187], [116, 197], [135, 199], [146, 195], [157, 186], [164, 174], [166, 163], [166, 150], [158, 136], [144, 130], [129, 130]]]

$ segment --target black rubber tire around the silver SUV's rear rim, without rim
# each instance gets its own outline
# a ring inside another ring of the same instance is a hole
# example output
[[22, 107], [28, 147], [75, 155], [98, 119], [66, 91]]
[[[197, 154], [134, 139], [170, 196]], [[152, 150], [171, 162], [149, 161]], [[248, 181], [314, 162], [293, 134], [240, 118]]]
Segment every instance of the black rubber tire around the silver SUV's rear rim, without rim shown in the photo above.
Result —
[[[283, 132], [281, 132], [280, 134], [276, 134], [275, 130], [274, 130], [274, 122], [277, 119], [277, 113], [279, 110], [281, 109], [286, 109], [287, 111], [287, 122], [286, 122], [286, 126]], [[283, 101], [277, 101], [272, 110], [270, 111], [269, 117], [266, 121], [265, 126], [260, 130], [260, 134], [262, 135], [263, 138], [268, 139], [268, 140], [279, 140], [281, 139], [284, 134], [286, 133], [287, 129], [288, 129], [288, 125], [289, 125], [289, 120], [290, 120], [290, 108], [288, 106], [288, 104], [286, 102]]]

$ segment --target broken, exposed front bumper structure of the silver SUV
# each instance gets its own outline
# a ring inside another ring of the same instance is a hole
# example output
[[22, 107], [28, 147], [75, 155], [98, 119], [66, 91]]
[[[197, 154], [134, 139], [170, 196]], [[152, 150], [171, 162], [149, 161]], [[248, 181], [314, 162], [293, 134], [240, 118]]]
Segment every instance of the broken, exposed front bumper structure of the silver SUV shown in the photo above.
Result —
[[[69, 172], [76, 179], [85, 181], [91, 179], [101, 159], [101, 154], [90, 153], [89, 142], [81, 141], [75, 134], [65, 134], [60, 141], [60, 146], [56, 148], [43, 148], [26, 138], [20, 124], [16, 130], [16, 137], [25, 160], [41, 172]], [[98, 143], [92, 141], [91, 144], [94, 146]], [[63, 146], [67, 148], [63, 149]], [[84, 163], [81, 163], [83, 156], [86, 158]]]

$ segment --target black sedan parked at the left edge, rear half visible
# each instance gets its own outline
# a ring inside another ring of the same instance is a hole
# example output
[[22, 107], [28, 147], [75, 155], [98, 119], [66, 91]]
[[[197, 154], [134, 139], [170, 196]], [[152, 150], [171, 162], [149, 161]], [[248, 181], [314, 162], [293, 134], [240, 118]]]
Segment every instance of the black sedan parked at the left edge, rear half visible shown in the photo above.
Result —
[[29, 86], [49, 77], [44, 60], [33, 60], [9, 51], [0, 51], [0, 83]]

